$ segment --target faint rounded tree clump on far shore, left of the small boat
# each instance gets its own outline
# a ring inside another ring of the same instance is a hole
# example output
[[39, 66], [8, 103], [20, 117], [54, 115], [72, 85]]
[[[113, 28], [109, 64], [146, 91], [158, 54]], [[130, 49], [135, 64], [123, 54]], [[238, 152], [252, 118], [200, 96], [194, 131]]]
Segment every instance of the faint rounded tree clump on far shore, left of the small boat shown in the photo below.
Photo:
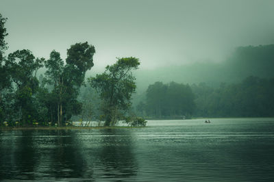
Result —
[[146, 105], [138, 105], [139, 109], [144, 107], [147, 116], [157, 118], [191, 116], [195, 110], [194, 94], [188, 85], [158, 81], [147, 88]]

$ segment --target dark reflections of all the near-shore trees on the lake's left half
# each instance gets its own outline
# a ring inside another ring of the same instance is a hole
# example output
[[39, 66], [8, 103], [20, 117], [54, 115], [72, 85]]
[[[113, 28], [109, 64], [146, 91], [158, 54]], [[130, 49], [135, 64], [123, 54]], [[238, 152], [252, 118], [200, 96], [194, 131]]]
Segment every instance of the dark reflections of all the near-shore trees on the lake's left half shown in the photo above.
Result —
[[0, 179], [128, 178], [137, 170], [131, 140], [116, 129], [1, 131]]

